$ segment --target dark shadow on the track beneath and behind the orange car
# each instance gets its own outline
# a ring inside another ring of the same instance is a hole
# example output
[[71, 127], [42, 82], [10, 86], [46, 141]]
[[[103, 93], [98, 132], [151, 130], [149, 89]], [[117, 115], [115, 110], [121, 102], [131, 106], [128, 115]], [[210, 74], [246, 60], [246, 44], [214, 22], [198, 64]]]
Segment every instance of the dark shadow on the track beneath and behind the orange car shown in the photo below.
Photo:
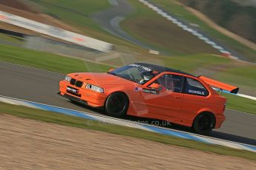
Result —
[[[76, 102], [71, 102], [71, 103], [75, 104], [76, 106], [81, 106], [85, 109], [89, 109], [93, 112], [97, 112], [101, 115], [108, 116], [108, 114], [105, 112], [104, 109], [92, 108], [91, 106], [85, 106], [83, 104], [76, 103]], [[152, 125], [152, 126], [159, 126], [159, 127], [163, 127], [163, 128], [167, 128], [167, 129], [180, 130], [180, 131], [183, 131], [183, 132], [192, 132], [190, 127], [181, 126], [181, 125], [177, 125], [177, 124], [174, 124], [174, 123], [168, 123], [164, 120], [156, 120], [156, 119], [150, 119], [150, 118], [139, 118], [139, 117], [130, 116], [130, 115], [126, 115], [122, 119], [123, 120], [131, 120], [131, 121], [134, 121], [134, 122], [137, 122], [137, 123], [143, 123], [143, 124]], [[208, 137], [219, 138], [219, 139], [222, 139], [222, 140], [229, 140], [229, 141], [233, 141], [233, 142], [237, 142], [237, 143], [246, 143], [246, 144], [249, 144], [249, 145], [256, 146], [256, 140], [255, 139], [251, 139], [251, 138], [248, 138], [248, 137], [241, 137], [241, 136], [237, 136], [237, 135], [231, 135], [231, 134], [224, 133], [224, 132], [212, 131], [207, 136]]]

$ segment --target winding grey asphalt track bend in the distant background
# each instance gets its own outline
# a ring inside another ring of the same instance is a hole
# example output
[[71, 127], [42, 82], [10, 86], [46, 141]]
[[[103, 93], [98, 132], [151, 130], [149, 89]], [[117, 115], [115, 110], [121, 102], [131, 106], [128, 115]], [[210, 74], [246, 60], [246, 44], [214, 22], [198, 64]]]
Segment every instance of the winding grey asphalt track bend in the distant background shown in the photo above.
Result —
[[111, 7], [107, 10], [103, 10], [99, 13], [95, 13], [91, 16], [94, 21], [96, 21], [102, 29], [108, 31], [112, 35], [116, 35], [119, 38], [130, 41], [133, 44], [137, 44], [140, 47], [146, 49], [151, 49], [146, 44], [138, 41], [136, 38], [128, 35], [122, 28], [119, 26], [119, 22], [123, 21], [126, 16], [134, 11], [134, 8], [126, 0], [108, 0], [111, 4]]

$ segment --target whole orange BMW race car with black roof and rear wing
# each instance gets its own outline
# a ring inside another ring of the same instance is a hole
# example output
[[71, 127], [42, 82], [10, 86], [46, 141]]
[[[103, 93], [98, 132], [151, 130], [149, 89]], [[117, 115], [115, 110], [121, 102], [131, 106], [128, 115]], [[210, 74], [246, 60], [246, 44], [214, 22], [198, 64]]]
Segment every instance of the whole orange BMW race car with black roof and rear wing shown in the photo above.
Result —
[[70, 101], [104, 107], [108, 115], [134, 115], [190, 126], [199, 134], [220, 128], [226, 98], [212, 87], [238, 88], [176, 69], [134, 63], [106, 73], [76, 72], [59, 82], [59, 94]]

